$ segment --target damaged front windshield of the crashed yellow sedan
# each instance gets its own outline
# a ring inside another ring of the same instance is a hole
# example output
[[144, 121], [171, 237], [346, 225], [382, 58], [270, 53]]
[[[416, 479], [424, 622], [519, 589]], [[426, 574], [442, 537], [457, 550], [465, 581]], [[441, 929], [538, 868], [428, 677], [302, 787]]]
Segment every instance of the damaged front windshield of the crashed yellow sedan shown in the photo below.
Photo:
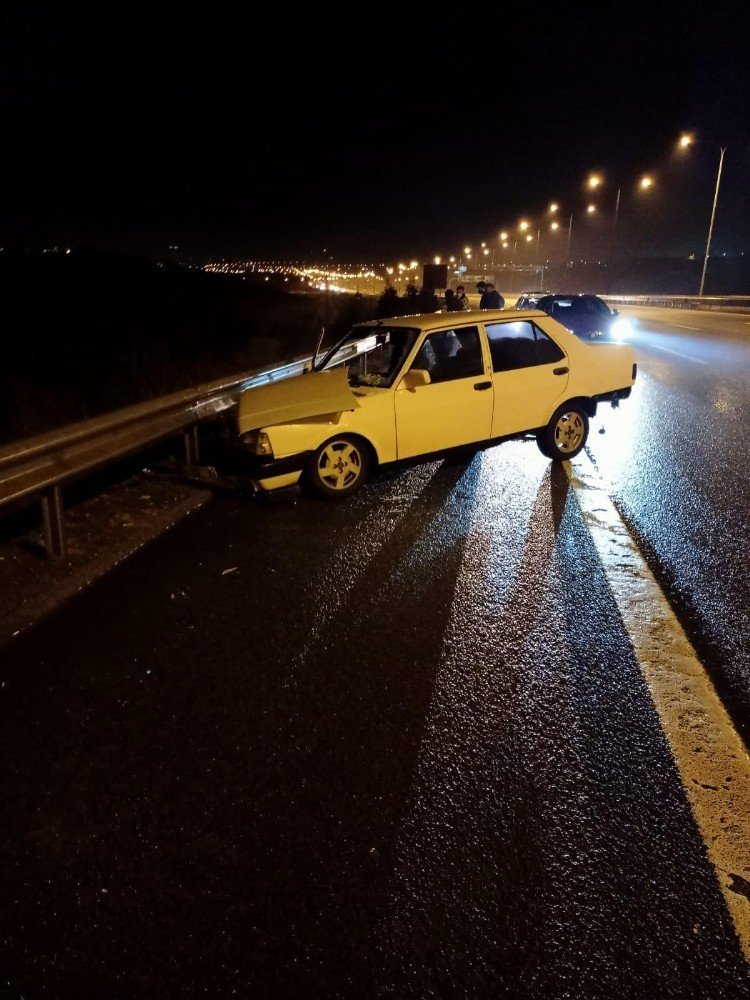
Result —
[[349, 385], [386, 389], [411, 350], [418, 330], [404, 326], [355, 326], [315, 365], [315, 371], [346, 365]]

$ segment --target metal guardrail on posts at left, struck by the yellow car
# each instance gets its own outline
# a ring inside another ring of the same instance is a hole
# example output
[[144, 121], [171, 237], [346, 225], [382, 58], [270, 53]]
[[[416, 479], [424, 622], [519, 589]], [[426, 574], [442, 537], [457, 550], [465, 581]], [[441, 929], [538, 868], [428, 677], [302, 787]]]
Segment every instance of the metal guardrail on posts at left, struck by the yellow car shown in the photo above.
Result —
[[243, 389], [298, 375], [309, 360], [209, 382], [0, 447], [0, 509], [41, 500], [47, 555], [63, 556], [66, 482], [180, 434], [185, 461], [197, 463], [201, 423], [233, 408]]

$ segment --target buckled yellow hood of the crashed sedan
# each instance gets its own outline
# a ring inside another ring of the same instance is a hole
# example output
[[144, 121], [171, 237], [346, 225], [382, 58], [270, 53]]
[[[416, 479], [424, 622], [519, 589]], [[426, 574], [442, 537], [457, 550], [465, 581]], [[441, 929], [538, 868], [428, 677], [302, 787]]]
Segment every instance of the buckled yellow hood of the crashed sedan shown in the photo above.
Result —
[[346, 368], [332, 368], [246, 389], [240, 395], [237, 421], [240, 434], [244, 434], [272, 424], [356, 410], [358, 406]]

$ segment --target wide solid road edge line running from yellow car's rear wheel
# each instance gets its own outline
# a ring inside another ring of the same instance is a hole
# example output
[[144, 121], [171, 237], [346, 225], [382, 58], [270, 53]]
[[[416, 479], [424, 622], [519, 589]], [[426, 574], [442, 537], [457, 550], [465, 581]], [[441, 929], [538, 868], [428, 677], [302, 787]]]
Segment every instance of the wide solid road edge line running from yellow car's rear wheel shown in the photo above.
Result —
[[750, 961], [750, 757], [593, 463], [566, 471]]

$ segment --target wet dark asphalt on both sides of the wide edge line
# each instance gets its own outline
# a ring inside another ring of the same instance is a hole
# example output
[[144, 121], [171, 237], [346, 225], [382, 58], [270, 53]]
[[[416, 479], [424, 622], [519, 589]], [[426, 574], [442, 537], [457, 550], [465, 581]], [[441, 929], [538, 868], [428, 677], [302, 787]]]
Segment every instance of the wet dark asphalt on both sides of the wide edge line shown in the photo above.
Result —
[[[591, 451], [739, 690], [750, 341], [649, 324]], [[217, 497], [2, 660], [9, 997], [750, 997], [533, 443]]]

